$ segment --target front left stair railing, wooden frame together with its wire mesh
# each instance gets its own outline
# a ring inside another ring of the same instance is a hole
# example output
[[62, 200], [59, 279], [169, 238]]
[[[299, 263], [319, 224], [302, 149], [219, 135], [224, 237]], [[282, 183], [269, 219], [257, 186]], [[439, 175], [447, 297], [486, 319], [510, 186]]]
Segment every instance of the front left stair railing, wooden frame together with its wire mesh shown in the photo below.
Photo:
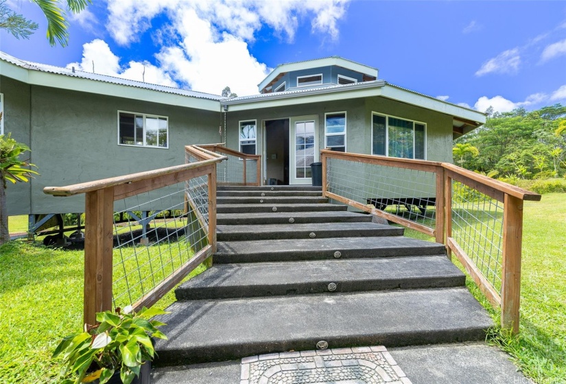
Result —
[[[43, 190], [86, 195], [85, 323], [95, 324], [95, 313], [113, 304], [149, 307], [215, 252], [216, 167], [226, 156], [186, 150], [185, 165]], [[135, 219], [117, 221], [124, 215]], [[152, 244], [144, 241], [151, 220]]]

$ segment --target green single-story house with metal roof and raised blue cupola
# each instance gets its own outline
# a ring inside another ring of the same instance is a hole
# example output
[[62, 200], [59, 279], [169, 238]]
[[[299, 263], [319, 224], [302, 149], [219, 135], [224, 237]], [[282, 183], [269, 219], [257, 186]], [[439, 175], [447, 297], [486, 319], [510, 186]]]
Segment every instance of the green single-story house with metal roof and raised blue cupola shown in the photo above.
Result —
[[40, 172], [8, 187], [9, 215], [84, 212], [43, 188], [178, 165], [190, 144], [261, 155], [264, 184], [310, 184], [319, 149], [451, 162], [453, 138], [485, 122], [339, 57], [281, 64], [258, 95], [226, 99], [0, 52], [0, 111]]

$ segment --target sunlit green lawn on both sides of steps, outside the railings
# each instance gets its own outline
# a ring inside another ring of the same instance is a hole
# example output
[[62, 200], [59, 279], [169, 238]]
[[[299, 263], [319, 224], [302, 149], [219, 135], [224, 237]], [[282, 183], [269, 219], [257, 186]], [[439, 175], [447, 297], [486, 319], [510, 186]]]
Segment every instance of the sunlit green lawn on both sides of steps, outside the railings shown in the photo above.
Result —
[[[524, 217], [521, 333], [508, 337], [496, 328], [488, 340], [537, 383], [566, 383], [566, 194], [526, 202]], [[0, 383], [53, 381], [58, 368], [51, 352], [82, 325], [82, 270], [82, 251], [23, 241], [0, 248]], [[498, 321], [498, 311], [471, 280], [467, 285]], [[156, 305], [173, 301], [170, 292]]]

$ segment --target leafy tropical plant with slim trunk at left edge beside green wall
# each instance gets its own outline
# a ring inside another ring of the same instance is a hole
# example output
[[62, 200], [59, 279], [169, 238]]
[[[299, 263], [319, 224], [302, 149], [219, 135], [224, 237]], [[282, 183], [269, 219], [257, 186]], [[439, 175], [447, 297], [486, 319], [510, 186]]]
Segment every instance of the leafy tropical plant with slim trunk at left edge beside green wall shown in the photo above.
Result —
[[[2, 112], [0, 112], [0, 120]], [[8, 134], [0, 135], [0, 245], [10, 240], [8, 231], [8, 207], [6, 206], [7, 182], [28, 182], [38, 173], [29, 167], [35, 165], [21, 160], [20, 155], [29, 151], [27, 145], [18, 143]]]

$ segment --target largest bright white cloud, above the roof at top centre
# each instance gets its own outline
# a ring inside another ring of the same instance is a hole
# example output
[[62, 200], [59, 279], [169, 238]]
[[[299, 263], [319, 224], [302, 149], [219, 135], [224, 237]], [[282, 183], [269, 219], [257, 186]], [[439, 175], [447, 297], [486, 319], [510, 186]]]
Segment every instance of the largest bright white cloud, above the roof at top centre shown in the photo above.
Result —
[[268, 73], [248, 49], [259, 29], [268, 25], [293, 40], [300, 21], [309, 20], [312, 32], [335, 39], [348, 1], [108, 0], [107, 29], [128, 45], [165, 14], [168, 22], [152, 31], [162, 45], [156, 58], [165, 73], [195, 91], [219, 94], [230, 86], [238, 95], [251, 95]]

